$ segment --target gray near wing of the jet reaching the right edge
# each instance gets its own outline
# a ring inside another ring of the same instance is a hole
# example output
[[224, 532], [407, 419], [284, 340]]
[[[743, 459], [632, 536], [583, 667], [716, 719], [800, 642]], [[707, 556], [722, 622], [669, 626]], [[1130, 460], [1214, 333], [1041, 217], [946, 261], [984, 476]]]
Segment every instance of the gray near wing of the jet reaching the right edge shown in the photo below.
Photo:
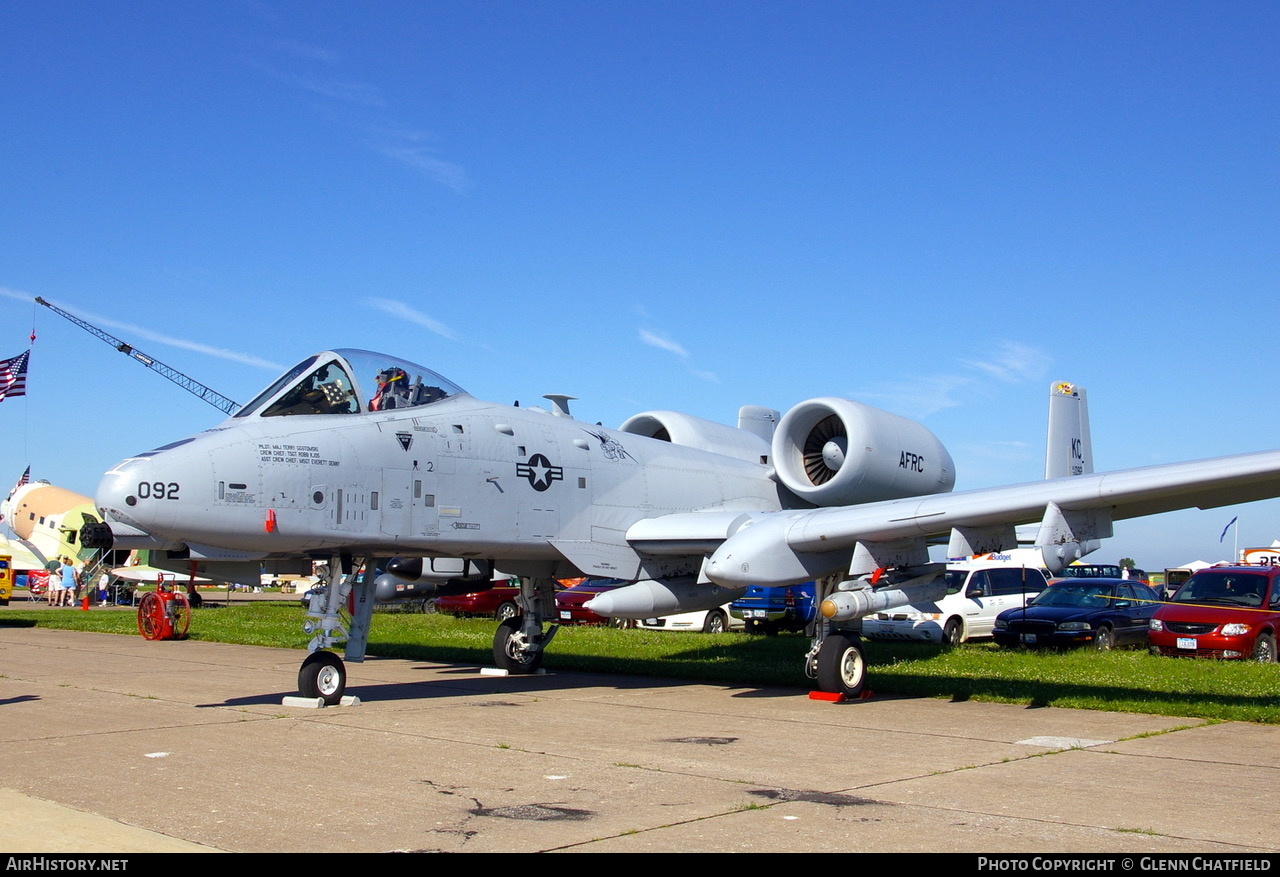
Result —
[[1280, 495], [1280, 451], [1268, 451], [859, 506], [776, 512], [762, 515], [730, 535], [712, 554], [705, 575], [726, 586], [791, 584], [842, 566], [856, 575], [881, 566], [927, 562], [925, 540], [948, 531], [952, 544], [974, 545], [987, 536], [1006, 543], [998, 548], [1011, 548], [1007, 543], [1014, 525], [1039, 520], [1037, 544], [1079, 543], [1110, 536], [1112, 520], [1276, 495]]

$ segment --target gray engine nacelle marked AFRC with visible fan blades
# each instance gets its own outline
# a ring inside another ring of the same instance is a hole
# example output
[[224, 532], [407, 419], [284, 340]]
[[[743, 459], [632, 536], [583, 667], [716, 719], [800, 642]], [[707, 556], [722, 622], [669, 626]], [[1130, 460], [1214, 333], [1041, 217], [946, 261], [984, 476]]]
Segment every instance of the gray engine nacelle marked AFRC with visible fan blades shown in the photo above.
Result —
[[773, 466], [788, 490], [815, 506], [947, 493], [956, 480], [951, 455], [923, 424], [835, 397], [782, 416]]

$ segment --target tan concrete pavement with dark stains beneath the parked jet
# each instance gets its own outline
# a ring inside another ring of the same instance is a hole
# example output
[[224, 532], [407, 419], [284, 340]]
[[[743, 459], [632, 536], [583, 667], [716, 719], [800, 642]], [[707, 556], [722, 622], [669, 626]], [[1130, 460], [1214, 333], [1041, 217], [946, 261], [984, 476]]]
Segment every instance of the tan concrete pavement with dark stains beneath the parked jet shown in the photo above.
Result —
[[0, 849], [1280, 850], [1280, 726], [301, 658], [0, 616]]

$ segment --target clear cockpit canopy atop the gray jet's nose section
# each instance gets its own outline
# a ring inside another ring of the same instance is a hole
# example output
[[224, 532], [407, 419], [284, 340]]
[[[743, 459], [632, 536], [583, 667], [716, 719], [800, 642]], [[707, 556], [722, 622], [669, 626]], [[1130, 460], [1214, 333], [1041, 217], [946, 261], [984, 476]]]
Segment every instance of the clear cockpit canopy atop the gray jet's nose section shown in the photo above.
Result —
[[371, 351], [308, 356], [236, 412], [237, 417], [413, 408], [465, 393], [430, 369]]

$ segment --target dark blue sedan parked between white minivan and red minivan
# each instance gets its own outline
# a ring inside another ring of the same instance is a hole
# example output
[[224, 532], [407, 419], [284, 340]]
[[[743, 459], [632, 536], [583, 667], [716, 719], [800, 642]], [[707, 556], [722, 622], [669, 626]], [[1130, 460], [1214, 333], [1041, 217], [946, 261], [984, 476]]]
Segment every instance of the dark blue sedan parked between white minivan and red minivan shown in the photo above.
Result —
[[1147, 622], [1164, 600], [1130, 579], [1060, 579], [1025, 608], [996, 617], [992, 635], [1001, 645], [1073, 647], [1100, 652], [1117, 645], [1147, 645]]

